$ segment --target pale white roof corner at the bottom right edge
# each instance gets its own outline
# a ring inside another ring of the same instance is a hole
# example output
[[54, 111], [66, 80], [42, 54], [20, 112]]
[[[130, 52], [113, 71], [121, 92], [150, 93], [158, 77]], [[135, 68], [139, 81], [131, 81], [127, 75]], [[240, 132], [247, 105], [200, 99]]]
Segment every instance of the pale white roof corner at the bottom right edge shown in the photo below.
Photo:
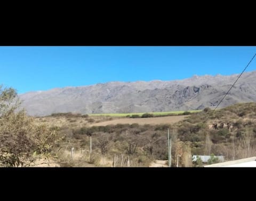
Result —
[[256, 157], [231, 160], [224, 163], [205, 165], [204, 167], [256, 167]]

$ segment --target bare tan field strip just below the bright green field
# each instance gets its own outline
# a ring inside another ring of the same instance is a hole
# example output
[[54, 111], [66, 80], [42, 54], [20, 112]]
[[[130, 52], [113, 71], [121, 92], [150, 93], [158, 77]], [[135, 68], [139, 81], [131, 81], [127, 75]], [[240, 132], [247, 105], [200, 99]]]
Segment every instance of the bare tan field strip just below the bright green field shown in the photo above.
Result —
[[168, 117], [151, 117], [151, 118], [120, 118], [91, 124], [90, 126], [106, 126], [110, 124], [173, 124], [185, 119], [187, 116], [168, 116]]

